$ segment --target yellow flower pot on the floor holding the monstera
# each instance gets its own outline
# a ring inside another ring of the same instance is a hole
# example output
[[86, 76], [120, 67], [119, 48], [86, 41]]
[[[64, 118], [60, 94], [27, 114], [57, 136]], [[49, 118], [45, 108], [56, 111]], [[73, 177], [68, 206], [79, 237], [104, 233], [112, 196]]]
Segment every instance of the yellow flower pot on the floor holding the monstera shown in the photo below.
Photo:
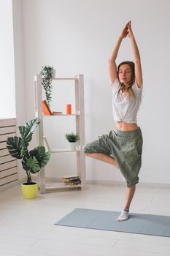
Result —
[[38, 191], [38, 184], [33, 182], [33, 184], [21, 184], [21, 189], [23, 192], [23, 197], [26, 199], [34, 199], [36, 198], [36, 194]]

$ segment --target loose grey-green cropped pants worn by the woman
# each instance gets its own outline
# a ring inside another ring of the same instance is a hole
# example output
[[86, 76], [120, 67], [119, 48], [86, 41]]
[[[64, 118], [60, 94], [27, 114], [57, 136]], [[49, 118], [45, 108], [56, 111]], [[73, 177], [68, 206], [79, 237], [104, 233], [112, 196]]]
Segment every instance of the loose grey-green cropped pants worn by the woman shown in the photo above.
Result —
[[85, 153], [104, 153], [112, 156], [117, 167], [123, 174], [127, 187], [139, 182], [139, 170], [142, 165], [142, 132], [135, 129], [122, 132], [118, 129], [110, 131], [109, 135], [99, 136], [97, 140], [87, 143], [82, 151]]

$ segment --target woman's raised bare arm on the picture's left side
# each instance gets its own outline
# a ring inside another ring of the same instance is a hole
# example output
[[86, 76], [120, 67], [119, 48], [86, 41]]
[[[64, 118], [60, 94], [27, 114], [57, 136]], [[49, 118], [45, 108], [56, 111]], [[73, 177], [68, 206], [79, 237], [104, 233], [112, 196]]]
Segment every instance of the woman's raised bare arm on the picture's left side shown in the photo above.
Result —
[[115, 62], [117, 58], [117, 53], [119, 51], [123, 38], [125, 38], [127, 34], [128, 34], [128, 23], [125, 25], [123, 31], [120, 33], [120, 36], [118, 37], [115, 47], [113, 48], [112, 54], [109, 58], [109, 77], [112, 85], [115, 83], [115, 79], [117, 78], [117, 66]]

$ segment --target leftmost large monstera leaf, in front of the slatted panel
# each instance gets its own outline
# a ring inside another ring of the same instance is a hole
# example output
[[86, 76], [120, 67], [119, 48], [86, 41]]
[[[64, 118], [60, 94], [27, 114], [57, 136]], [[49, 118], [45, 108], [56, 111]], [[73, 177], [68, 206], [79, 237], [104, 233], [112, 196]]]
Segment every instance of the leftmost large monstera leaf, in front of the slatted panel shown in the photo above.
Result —
[[26, 146], [24, 145], [22, 138], [16, 136], [7, 138], [7, 148], [9, 154], [17, 159], [22, 159], [26, 152]]

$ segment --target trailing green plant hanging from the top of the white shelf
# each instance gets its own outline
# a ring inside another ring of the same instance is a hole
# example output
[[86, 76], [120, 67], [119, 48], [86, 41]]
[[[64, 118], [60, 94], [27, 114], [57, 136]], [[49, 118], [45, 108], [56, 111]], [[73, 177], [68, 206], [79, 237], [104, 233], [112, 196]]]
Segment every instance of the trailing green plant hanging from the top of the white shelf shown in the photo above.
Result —
[[46, 95], [46, 99], [47, 99], [47, 105], [49, 105], [50, 107], [50, 102], [52, 99], [52, 77], [53, 77], [53, 67], [50, 66], [45, 66], [42, 67], [41, 70], [41, 75], [42, 75], [42, 86], [45, 89], [45, 95]]

